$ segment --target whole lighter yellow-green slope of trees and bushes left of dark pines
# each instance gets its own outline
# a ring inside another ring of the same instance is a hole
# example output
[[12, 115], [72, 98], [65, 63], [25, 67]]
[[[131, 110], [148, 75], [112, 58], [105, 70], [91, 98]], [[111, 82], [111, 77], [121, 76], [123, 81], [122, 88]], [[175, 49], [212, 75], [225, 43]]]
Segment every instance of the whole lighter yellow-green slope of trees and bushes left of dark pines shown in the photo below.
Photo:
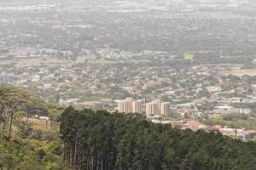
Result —
[[57, 110], [25, 90], [0, 86], [0, 169], [62, 170], [63, 145], [55, 126], [34, 115]]

